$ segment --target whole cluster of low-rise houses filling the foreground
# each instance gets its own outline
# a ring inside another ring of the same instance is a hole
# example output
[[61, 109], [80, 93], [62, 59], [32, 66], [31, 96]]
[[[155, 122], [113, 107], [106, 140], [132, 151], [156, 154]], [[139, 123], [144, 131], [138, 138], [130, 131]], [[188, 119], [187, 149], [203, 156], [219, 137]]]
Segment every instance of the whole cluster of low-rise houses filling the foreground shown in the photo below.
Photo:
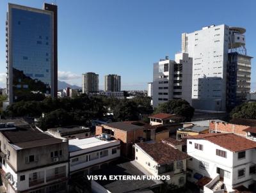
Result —
[[[150, 123], [101, 123], [43, 132], [22, 118], [1, 120], [6, 192], [163, 192], [187, 183], [201, 192], [255, 192], [256, 120], [192, 121], [154, 114]], [[12, 122], [12, 123], [10, 123]], [[88, 175], [170, 176], [89, 180]]]

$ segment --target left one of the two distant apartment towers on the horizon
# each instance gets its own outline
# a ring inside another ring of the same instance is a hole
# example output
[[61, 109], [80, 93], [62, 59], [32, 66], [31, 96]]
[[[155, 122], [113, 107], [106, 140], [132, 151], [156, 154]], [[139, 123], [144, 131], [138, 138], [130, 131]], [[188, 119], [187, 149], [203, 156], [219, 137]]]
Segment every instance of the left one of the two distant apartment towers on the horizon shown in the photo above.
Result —
[[99, 91], [99, 74], [94, 72], [83, 73], [82, 75], [83, 93], [95, 93]]

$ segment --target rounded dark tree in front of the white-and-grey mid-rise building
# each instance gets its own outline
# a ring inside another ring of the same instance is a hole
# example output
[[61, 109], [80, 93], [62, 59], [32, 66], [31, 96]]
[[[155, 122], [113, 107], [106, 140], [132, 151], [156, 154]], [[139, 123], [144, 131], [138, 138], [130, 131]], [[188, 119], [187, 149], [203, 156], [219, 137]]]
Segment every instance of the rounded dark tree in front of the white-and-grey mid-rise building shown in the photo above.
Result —
[[183, 116], [185, 118], [184, 121], [191, 121], [193, 118], [195, 109], [189, 105], [186, 100], [183, 99], [174, 99], [169, 100], [168, 102], [164, 102], [159, 104], [158, 107], [154, 109], [154, 113], [169, 113], [169, 114], [177, 114]]

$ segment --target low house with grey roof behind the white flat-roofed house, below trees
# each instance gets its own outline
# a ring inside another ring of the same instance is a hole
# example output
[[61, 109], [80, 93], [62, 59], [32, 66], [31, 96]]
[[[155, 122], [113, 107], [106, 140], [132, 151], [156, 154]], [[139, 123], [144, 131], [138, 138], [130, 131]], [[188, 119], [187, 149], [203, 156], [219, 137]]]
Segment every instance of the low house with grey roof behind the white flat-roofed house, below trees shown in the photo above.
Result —
[[59, 139], [74, 139], [90, 136], [90, 128], [81, 126], [67, 126], [47, 129], [47, 133]]

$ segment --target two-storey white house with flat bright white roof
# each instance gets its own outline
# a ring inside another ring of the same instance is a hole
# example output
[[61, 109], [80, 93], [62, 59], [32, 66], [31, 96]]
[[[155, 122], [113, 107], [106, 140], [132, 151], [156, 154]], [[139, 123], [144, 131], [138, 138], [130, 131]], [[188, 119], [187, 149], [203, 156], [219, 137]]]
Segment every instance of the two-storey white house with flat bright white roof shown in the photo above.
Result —
[[99, 135], [68, 140], [69, 171], [71, 178], [92, 174], [92, 171], [108, 167], [108, 163], [120, 157], [120, 141]]

